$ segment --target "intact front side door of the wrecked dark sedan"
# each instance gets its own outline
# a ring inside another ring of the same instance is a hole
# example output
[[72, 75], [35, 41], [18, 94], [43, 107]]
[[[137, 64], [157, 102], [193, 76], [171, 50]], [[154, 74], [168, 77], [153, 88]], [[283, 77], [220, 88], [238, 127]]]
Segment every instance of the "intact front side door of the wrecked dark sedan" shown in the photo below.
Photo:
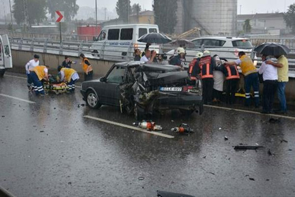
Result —
[[102, 99], [105, 103], [111, 105], [119, 105], [120, 90], [119, 85], [122, 84], [125, 76], [125, 66], [114, 66], [106, 76], [106, 82], [102, 88]]

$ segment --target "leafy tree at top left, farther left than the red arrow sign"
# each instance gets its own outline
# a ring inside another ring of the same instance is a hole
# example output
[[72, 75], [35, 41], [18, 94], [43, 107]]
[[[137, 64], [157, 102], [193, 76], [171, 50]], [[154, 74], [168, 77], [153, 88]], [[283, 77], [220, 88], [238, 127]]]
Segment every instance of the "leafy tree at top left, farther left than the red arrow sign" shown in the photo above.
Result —
[[[27, 0], [29, 25], [34, 23], [39, 24], [43, 20], [47, 19], [46, 9], [46, 0]], [[12, 13], [17, 24], [25, 22], [24, 10], [24, 0], [13, 0]]]

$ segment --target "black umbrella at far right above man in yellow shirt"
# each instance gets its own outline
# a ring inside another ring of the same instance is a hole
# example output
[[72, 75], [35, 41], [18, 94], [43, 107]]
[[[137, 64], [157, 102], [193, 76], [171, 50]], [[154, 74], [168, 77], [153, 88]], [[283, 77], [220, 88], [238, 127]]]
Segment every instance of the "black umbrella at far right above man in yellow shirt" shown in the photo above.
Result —
[[290, 49], [283, 44], [263, 43], [256, 47], [254, 51], [263, 55], [281, 56], [287, 55], [290, 52]]

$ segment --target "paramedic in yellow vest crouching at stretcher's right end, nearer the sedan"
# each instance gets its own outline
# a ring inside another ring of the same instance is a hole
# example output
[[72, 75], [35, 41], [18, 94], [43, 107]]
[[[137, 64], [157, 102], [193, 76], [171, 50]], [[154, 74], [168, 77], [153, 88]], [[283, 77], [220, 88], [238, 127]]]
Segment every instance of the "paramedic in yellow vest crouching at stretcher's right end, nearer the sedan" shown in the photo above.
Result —
[[79, 79], [79, 75], [73, 68], [64, 68], [62, 66], [58, 67], [60, 74], [60, 81], [68, 83], [69, 91], [71, 93], [75, 92], [75, 82]]

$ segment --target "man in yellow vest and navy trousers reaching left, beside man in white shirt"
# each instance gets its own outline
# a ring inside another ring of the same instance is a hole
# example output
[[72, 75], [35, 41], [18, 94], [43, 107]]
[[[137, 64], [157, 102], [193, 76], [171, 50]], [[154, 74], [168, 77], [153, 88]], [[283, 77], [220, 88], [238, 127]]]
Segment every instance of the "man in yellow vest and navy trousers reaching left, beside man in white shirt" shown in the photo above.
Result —
[[245, 52], [240, 51], [238, 53], [239, 59], [237, 59], [234, 62], [225, 62], [226, 65], [240, 65], [242, 74], [244, 75], [245, 80], [245, 94], [246, 94], [246, 100], [245, 100], [245, 106], [250, 106], [250, 91], [251, 87], [253, 87], [254, 90], [254, 99], [255, 99], [255, 107], [259, 107], [259, 77], [258, 77], [258, 71], [256, 67], [253, 64], [253, 61], [250, 57], [248, 57]]

